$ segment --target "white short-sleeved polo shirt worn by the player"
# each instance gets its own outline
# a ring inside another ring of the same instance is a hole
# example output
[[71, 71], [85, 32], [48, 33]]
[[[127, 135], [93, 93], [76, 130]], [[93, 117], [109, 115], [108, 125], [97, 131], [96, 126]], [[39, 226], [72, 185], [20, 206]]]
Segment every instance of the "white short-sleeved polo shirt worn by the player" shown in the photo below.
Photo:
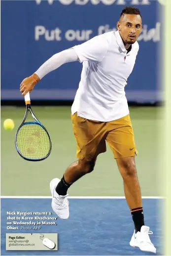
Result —
[[102, 122], [128, 115], [124, 88], [135, 65], [138, 43], [127, 54], [119, 32], [112, 31], [73, 48], [83, 68], [71, 113]]

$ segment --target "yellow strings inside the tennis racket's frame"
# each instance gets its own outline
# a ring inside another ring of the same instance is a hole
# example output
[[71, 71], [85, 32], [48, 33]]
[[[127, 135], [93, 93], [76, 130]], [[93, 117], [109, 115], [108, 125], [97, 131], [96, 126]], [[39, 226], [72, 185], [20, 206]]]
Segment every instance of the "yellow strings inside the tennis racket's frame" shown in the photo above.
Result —
[[17, 134], [17, 147], [20, 153], [28, 159], [41, 159], [50, 151], [50, 139], [39, 124], [26, 124]]

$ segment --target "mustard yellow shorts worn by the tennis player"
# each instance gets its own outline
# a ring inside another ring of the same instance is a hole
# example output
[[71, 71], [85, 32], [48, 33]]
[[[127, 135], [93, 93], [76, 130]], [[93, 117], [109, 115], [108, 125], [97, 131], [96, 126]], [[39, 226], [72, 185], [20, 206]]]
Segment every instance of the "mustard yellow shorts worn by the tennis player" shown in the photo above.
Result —
[[105, 141], [109, 144], [114, 158], [137, 155], [134, 131], [127, 115], [111, 122], [88, 120], [71, 115], [74, 136], [77, 142], [76, 157], [90, 161], [106, 151]]

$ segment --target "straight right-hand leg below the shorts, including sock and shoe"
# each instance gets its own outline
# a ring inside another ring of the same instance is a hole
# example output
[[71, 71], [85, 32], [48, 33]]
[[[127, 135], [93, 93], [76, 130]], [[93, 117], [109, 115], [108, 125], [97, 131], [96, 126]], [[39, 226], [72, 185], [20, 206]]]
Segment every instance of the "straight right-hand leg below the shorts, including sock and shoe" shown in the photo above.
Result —
[[144, 225], [141, 191], [137, 177], [135, 156], [118, 158], [116, 162], [123, 178], [125, 197], [135, 224], [135, 231], [130, 245], [139, 247], [141, 251], [156, 253], [156, 248], [151, 243], [148, 235], [149, 227]]

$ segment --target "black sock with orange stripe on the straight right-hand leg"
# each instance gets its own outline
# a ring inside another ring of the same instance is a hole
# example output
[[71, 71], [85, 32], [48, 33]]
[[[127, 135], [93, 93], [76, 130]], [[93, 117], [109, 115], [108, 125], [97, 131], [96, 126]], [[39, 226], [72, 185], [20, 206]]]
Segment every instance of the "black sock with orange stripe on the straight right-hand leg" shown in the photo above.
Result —
[[132, 209], [131, 215], [133, 216], [136, 233], [138, 231], [140, 232], [141, 227], [144, 225], [144, 213], [142, 207]]

